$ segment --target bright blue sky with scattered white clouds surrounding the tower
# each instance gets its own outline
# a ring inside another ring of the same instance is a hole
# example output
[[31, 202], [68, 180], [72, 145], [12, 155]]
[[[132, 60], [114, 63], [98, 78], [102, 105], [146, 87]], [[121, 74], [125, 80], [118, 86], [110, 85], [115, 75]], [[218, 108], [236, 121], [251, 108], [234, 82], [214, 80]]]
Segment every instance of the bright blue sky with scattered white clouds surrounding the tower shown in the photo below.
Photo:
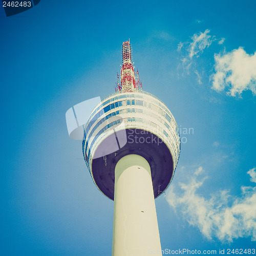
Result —
[[65, 113], [114, 92], [129, 38], [143, 90], [186, 142], [155, 201], [162, 249], [256, 247], [256, 3], [129, 3], [41, 0], [10, 17], [0, 8], [1, 254], [111, 254], [114, 204]]

